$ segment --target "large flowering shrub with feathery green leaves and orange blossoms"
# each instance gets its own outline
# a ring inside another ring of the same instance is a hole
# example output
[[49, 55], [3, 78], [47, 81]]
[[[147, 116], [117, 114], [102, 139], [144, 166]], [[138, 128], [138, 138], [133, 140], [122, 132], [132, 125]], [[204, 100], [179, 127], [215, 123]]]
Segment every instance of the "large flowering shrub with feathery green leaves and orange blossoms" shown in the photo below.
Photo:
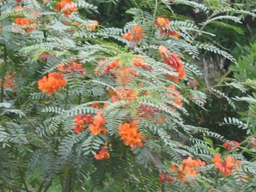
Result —
[[[247, 130], [238, 142], [185, 117], [195, 118], [190, 107], [210, 111], [211, 93], [255, 107], [205, 87], [197, 66], [201, 50], [237, 63], [198, 37], [217, 36], [205, 31], [216, 20], [255, 13], [223, 1], [132, 0], [133, 21], [120, 29], [89, 18], [98, 2], [0, 2], [0, 190], [102, 191], [115, 179], [119, 191], [252, 191], [253, 119], [221, 123]], [[175, 6], [207, 18], [199, 28]], [[255, 87], [232, 81], [223, 86]]]

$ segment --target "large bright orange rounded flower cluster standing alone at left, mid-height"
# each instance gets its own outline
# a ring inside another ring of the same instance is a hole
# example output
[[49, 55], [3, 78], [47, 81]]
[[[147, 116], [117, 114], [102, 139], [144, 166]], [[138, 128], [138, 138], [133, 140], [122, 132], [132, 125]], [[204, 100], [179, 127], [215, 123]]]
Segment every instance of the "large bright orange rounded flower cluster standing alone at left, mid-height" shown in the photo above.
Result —
[[49, 95], [59, 90], [61, 87], [65, 87], [66, 84], [66, 79], [58, 72], [51, 72], [48, 76], [44, 76], [37, 82], [38, 88]]

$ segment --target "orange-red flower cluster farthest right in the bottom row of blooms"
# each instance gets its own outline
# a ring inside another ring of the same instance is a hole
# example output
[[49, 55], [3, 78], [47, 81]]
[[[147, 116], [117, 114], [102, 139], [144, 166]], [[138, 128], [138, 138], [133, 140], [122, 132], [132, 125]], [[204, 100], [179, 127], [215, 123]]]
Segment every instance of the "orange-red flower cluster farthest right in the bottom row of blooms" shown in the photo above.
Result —
[[227, 156], [225, 160], [222, 160], [219, 153], [216, 153], [212, 159], [212, 163], [218, 168], [226, 177], [231, 174], [235, 167], [240, 166], [241, 162], [237, 161], [231, 156]]

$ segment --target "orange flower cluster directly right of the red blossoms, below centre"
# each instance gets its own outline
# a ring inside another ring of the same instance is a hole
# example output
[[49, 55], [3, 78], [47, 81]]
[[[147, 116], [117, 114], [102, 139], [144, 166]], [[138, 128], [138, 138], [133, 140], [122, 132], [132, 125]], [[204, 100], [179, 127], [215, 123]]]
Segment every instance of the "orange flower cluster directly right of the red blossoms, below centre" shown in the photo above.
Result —
[[89, 125], [89, 130], [92, 134], [98, 135], [100, 133], [106, 134], [107, 130], [103, 126], [105, 119], [103, 118], [102, 111], [98, 111], [94, 116], [92, 123]]

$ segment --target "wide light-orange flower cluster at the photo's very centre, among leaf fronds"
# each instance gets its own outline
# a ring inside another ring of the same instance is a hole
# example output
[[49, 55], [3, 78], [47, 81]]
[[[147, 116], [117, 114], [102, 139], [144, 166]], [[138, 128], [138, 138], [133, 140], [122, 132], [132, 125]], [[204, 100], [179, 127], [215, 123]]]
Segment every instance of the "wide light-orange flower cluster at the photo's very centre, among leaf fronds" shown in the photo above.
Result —
[[125, 100], [125, 101], [134, 101], [135, 99], [138, 98], [138, 90], [135, 89], [124, 89], [124, 88], [118, 88], [117, 92], [115, 94], [112, 94], [112, 100], [113, 102], [117, 102], [120, 100]]

